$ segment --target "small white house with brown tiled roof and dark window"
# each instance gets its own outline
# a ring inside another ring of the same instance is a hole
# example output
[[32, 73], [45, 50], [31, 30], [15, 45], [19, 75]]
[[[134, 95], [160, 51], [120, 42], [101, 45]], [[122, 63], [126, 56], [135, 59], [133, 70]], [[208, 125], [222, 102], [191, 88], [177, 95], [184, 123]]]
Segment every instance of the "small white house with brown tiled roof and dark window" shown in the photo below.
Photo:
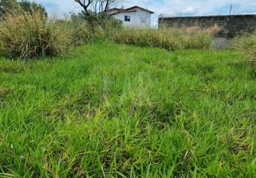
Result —
[[133, 6], [128, 9], [109, 9], [107, 11], [114, 18], [122, 21], [124, 26], [130, 27], [147, 27], [151, 25], [151, 15], [153, 11], [149, 11], [139, 6]]

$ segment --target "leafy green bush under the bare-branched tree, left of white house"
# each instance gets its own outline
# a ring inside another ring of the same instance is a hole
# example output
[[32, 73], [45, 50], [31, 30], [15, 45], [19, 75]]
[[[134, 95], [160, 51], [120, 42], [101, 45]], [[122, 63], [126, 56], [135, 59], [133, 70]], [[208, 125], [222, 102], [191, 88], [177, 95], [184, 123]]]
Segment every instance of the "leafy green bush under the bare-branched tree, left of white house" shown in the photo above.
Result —
[[86, 15], [70, 14], [64, 21], [59, 21], [60, 26], [67, 31], [74, 46], [79, 46], [94, 40], [109, 39], [112, 31], [121, 28], [121, 23], [107, 14], [95, 14], [90, 12]]

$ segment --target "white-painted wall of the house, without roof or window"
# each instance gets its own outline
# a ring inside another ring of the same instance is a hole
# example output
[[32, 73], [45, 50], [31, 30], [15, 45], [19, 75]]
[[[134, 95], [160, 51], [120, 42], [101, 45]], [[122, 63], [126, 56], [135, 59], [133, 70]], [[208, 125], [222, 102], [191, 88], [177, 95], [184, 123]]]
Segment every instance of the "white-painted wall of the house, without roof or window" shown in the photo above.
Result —
[[[149, 27], [151, 23], [151, 14], [148, 11], [137, 9], [135, 12], [121, 12], [114, 14], [114, 18], [123, 22], [124, 26], [131, 27]], [[124, 21], [124, 16], [131, 16], [131, 21]]]

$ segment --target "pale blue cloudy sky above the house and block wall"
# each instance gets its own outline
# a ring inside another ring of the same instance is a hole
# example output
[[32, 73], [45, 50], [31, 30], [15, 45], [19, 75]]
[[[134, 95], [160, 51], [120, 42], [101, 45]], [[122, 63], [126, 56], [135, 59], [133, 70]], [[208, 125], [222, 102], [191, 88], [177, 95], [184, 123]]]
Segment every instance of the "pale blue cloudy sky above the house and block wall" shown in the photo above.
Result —
[[[34, 0], [46, 7], [51, 16], [61, 17], [70, 11], [81, 11], [74, 0]], [[143, 6], [158, 14], [170, 16], [203, 16], [229, 14], [256, 14], [256, 0], [126, 0], [124, 6]]]

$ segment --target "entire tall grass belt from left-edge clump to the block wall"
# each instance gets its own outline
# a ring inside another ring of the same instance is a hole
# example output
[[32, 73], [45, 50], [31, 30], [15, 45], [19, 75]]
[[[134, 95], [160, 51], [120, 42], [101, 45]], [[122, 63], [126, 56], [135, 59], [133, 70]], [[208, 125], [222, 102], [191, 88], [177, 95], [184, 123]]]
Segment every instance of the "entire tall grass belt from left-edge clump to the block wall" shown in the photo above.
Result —
[[111, 21], [87, 23], [84, 19], [49, 20], [41, 11], [26, 12], [20, 7], [6, 13], [0, 23], [0, 53], [9, 58], [57, 56], [71, 46], [94, 39], [169, 51], [209, 49], [212, 31], [199, 28], [125, 28]]

